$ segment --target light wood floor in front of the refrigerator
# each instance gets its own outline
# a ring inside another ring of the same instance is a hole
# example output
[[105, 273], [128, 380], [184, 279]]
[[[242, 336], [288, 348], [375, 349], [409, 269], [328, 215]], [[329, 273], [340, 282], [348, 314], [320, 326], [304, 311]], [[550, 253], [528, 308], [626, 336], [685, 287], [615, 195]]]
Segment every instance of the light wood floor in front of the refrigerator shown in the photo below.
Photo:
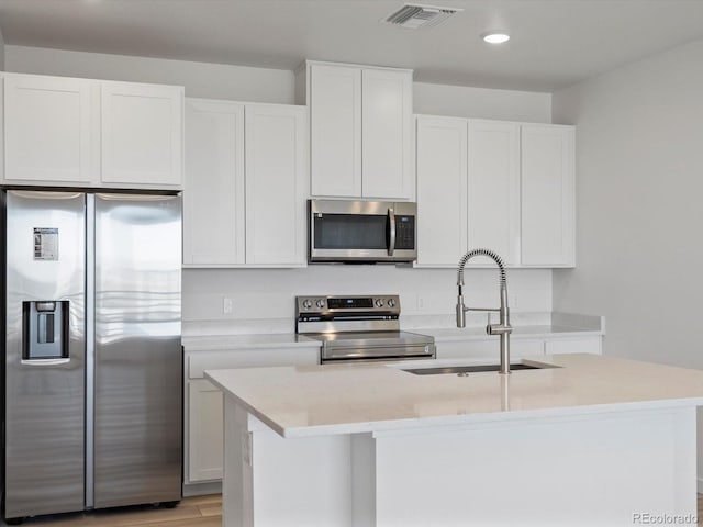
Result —
[[[26, 527], [220, 527], [222, 496], [185, 497], [176, 508], [130, 507], [30, 519]], [[699, 494], [703, 526], [703, 494]]]

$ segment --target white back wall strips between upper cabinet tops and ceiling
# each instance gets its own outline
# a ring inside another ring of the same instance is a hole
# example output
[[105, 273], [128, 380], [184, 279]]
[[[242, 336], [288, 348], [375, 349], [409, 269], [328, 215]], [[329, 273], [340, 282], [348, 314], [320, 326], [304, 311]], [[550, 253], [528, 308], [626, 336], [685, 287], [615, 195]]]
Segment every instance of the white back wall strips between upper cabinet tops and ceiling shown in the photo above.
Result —
[[[294, 102], [289, 70], [25, 46], [7, 46], [5, 53], [8, 71], [172, 83], [185, 86], [188, 97]], [[415, 113], [537, 123], [551, 119], [549, 93], [415, 82], [413, 98]]]

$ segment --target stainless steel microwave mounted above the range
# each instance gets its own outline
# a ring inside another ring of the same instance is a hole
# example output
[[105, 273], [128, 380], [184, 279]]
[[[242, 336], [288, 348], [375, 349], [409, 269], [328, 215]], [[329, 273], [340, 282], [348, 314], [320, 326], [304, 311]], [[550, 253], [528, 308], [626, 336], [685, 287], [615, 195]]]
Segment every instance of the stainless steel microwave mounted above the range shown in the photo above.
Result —
[[415, 203], [309, 200], [308, 210], [311, 262], [406, 262], [417, 258]]

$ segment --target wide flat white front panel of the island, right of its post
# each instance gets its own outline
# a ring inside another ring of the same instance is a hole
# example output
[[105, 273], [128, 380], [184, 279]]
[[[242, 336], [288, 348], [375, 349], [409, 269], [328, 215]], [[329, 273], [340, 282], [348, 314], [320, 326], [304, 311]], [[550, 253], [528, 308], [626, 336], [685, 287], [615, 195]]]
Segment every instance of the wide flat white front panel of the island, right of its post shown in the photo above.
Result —
[[373, 525], [690, 522], [695, 459], [693, 407], [381, 434]]

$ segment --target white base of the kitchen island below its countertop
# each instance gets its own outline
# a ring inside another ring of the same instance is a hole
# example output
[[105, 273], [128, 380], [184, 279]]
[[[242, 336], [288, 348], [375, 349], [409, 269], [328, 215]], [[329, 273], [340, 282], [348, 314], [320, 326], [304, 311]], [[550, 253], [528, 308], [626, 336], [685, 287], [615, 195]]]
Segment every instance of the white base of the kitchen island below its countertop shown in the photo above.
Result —
[[693, 406], [301, 438], [279, 436], [233, 397], [225, 415], [225, 527], [695, 517]]

